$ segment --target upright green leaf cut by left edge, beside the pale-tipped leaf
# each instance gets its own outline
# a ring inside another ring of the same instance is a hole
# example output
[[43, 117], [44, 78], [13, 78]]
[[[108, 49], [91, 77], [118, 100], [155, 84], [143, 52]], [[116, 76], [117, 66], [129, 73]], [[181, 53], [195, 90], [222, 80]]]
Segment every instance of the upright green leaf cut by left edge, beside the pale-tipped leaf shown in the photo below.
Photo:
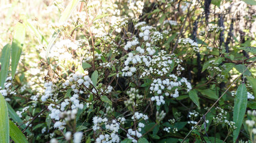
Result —
[[2, 49], [1, 58], [0, 58], [0, 62], [1, 62], [0, 87], [2, 87], [2, 89], [4, 89], [4, 83], [8, 75], [10, 56], [11, 56], [11, 45], [6, 44]]

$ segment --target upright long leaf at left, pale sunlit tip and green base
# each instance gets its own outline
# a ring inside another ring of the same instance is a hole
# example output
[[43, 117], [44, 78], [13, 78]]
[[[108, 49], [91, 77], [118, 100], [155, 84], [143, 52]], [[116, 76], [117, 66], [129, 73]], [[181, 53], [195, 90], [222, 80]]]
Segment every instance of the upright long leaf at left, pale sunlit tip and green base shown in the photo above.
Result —
[[12, 78], [14, 78], [20, 55], [22, 54], [22, 47], [25, 41], [26, 28], [23, 23], [18, 22], [15, 26], [15, 32], [12, 39]]

